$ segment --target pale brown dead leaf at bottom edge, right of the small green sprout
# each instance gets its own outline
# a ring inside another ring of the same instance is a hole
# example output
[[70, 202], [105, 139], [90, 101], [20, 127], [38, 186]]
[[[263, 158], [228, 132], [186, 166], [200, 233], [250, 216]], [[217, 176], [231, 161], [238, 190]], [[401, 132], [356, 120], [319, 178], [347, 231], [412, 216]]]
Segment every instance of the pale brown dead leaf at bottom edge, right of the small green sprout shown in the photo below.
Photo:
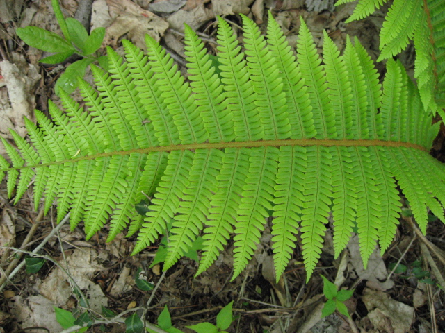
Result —
[[364, 289], [362, 300], [368, 309], [369, 321], [379, 332], [405, 333], [414, 320], [414, 307], [389, 298], [382, 291]]

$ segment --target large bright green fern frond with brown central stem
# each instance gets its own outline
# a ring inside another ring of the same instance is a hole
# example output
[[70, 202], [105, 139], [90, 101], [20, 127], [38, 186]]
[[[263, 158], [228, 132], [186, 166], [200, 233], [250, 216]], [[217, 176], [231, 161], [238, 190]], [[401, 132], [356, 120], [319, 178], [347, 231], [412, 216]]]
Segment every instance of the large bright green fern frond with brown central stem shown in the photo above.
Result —
[[26, 120], [32, 145], [11, 130], [19, 152], [3, 139], [13, 165], [0, 164], [9, 196], [18, 179], [15, 203], [34, 178], [35, 209], [57, 197], [58, 221], [70, 212], [87, 239], [108, 219], [108, 241], [138, 231], [133, 254], [173, 220], [164, 269], [203, 232], [197, 274], [234, 234], [234, 277], [270, 223], [277, 279], [297, 234], [310, 277], [330, 214], [336, 255], [357, 227], [366, 266], [394, 237], [397, 185], [423, 232], [427, 208], [444, 221], [445, 169], [428, 155], [439, 123], [400, 62], [388, 60], [380, 85], [357, 39], [341, 56], [325, 33], [322, 60], [302, 22], [297, 61], [272, 15], [266, 37], [243, 17], [245, 51], [218, 21], [218, 71], [188, 26], [189, 81], [151, 37], [147, 56], [124, 41], [125, 58], [108, 49], [108, 74], [92, 67], [97, 89], [80, 80], [86, 110], [61, 92], [52, 121], [38, 111], [38, 126]]

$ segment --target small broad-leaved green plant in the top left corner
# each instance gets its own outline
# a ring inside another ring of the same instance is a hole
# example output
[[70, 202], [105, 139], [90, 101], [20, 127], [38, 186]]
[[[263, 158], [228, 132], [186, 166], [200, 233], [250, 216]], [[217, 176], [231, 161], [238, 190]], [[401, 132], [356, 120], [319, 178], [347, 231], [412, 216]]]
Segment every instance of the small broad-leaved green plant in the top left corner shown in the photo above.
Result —
[[65, 69], [55, 86], [56, 93], [62, 88], [65, 92], [71, 94], [78, 86], [77, 77], [84, 76], [88, 65], [97, 61], [104, 68], [108, 66], [106, 56], [97, 55], [97, 50], [102, 45], [105, 37], [105, 28], [95, 28], [88, 35], [81, 22], [71, 17], [67, 19], [63, 17], [58, 0], [52, 0], [52, 6], [63, 37], [37, 26], [17, 28], [17, 35], [29, 46], [55, 53], [40, 60], [45, 64], [63, 62], [74, 53], [82, 57], [81, 60], [73, 62]]

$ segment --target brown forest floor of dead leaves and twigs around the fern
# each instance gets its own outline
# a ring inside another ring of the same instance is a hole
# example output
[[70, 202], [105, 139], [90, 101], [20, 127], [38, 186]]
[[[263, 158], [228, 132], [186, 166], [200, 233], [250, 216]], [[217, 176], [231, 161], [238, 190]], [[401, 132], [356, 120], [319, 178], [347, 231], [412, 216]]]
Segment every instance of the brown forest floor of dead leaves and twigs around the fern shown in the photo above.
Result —
[[[78, 1], [90, 0], [60, 1], [65, 17], [76, 15]], [[236, 14], [248, 15], [265, 31], [269, 9], [293, 47], [300, 17], [303, 17], [318, 47], [321, 48], [323, 29], [341, 50], [349, 34], [357, 36], [375, 60], [379, 53], [378, 32], [387, 7], [383, 6], [368, 19], [345, 24], [354, 6], [355, 3], [348, 3], [334, 8], [331, 0], [161, 0], [154, 3], [149, 0], [96, 0], [92, 13], [80, 17], [90, 19], [92, 28], [104, 26], [106, 37], [102, 46], [111, 45], [118, 51], [122, 50], [123, 38], [143, 48], [143, 36], [150, 33], [175, 56], [181, 69], [185, 62], [184, 23], [200, 31], [207, 40], [214, 41], [216, 15], [225, 16], [241, 35], [236, 28], [241, 20]], [[15, 69], [15, 79], [1, 76], [0, 72], [0, 135], [3, 137], [9, 137], [7, 128], [24, 135], [22, 117], [33, 119], [34, 108], [47, 113], [48, 100], [58, 99], [54, 83], [70, 65], [70, 62], [51, 66], [40, 64], [42, 52], [26, 46], [15, 34], [18, 27], [30, 25], [61, 34], [50, 0], [0, 0], [0, 56]], [[206, 46], [215, 54], [214, 42], [207, 42]], [[412, 46], [400, 58], [412, 74]], [[384, 64], [380, 62], [377, 67], [380, 74], [385, 73]], [[91, 78], [88, 72], [86, 79], [91, 81]], [[74, 93], [74, 98], [79, 99], [78, 95]], [[444, 137], [442, 128], [432, 149], [432, 155], [442, 162], [445, 160]], [[197, 262], [183, 258], [158, 284], [162, 266], [156, 264], [149, 268], [158, 245], [131, 257], [135, 237], [126, 239], [118, 235], [114, 241], [106, 243], [105, 228], [90, 241], [85, 241], [82, 228], [70, 232], [68, 225], [63, 225], [49, 238], [55, 224], [55, 207], [42, 219], [33, 211], [32, 191], [29, 190], [15, 206], [7, 198], [3, 182], [0, 186], [0, 246], [31, 251], [47, 240], [40, 251], [47, 260], [37, 273], [19, 269], [2, 289], [0, 333], [62, 332], [54, 307], [66, 309], [74, 316], [82, 306], [97, 316], [102, 314], [102, 307], [115, 314], [123, 311], [131, 314], [132, 309], [138, 309], [140, 314], [152, 296], [152, 291], [146, 290], [144, 279], [159, 287], [147, 309], [147, 320], [156, 324], [166, 305], [172, 324], [184, 332], [192, 332], [185, 327], [196, 323], [209, 321], [214, 324], [218, 311], [232, 301], [235, 320], [228, 332], [445, 332], [445, 297], [439, 287], [445, 272], [445, 228], [431, 216], [426, 236], [419, 234], [405, 203], [405, 216], [401, 217], [393, 244], [383, 256], [376, 250], [366, 270], [359, 257], [357, 237], [351, 239], [341, 257], [334, 259], [332, 234], [328, 228], [320, 262], [309, 283], [305, 283], [299, 246], [283, 278], [276, 283], [271, 235], [266, 227], [252, 262], [234, 281], [230, 281], [233, 244], [229, 242], [216, 263], [197, 278], [194, 277]], [[15, 250], [0, 248], [0, 276], [16, 267], [21, 255]], [[403, 264], [406, 270], [391, 270], [396, 263]], [[353, 297], [346, 301], [351, 320], [338, 312], [321, 318], [325, 301], [321, 274], [337, 287], [355, 289]], [[76, 301], [74, 284], [88, 299], [88, 306]], [[123, 323], [113, 323], [102, 327], [94, 325], [87, 332], [124, 331]]]

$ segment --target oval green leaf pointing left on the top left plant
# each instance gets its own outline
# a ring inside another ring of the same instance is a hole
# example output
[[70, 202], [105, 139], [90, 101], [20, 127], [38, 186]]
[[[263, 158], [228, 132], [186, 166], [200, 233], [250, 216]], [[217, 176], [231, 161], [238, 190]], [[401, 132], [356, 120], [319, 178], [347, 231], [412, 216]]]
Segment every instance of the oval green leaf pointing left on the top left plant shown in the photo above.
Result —
[[62, 37], [37, 26], [17, 28], [17, 35], [29, 46], [47, 52], [75, 51], [74, 47]]

